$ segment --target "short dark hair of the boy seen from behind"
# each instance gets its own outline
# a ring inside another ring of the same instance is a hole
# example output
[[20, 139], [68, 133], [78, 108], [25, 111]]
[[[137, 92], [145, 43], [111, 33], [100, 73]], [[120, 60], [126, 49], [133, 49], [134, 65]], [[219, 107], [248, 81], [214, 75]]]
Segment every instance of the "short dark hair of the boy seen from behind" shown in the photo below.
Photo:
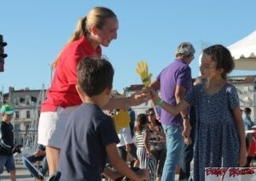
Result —
[[79, 87], [88, 96], [94, 96], [113, 84], [113, 66], [102, 57], [84, 58], [78, 65]]

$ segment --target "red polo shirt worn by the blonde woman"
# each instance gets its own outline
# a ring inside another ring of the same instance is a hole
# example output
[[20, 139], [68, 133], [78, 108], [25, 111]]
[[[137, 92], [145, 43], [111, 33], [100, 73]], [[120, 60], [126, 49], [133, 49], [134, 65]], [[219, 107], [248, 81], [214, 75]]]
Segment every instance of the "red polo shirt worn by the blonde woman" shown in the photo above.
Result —
[[102, 48], [92, 48], [86, 37], [67, 44], [61, 52], [46, 100], [41, 105], [42, 112], [55, 111], [58, 106], [65, 108], [82, 103], [75, 88], [77, 65], [84, 57], [96, 54], [101, 55]]

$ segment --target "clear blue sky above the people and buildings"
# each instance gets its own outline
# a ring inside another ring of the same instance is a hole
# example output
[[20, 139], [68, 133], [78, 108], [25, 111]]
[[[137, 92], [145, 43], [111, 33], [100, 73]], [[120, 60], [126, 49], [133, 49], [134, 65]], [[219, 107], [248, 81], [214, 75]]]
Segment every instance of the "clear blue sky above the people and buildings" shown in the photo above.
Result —
[[[72, 35], [77, 21], [90, 8], [106, 6], [119, 19], [118, 39], [104, 55], [115, 69], [113, 88], [122, 92], [141, 83], [137, 62], [148, 62], [153, 77], [174, 59], [180, 42], [195, 46], [190, 64], [199, 75], [199, 54], [212, 44], [224, 46], [256, 30], [255, 0], [8, 0], [1, 2], [0, 34], [8, 46], [5, 71], [0, 72], [4, 93], [10, 86], [40, 89], [50, 84], [50, 64]], [[256, 75], [256, 71], [233, 71], [231, 76]]]

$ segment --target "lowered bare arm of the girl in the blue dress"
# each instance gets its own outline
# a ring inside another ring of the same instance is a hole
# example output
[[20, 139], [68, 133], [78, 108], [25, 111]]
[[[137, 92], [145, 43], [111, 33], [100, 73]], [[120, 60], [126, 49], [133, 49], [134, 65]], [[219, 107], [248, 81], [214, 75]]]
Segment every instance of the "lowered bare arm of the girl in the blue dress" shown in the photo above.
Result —
[[244, 123], [241, 117], [241, 109], [239, 105], [233, 109], [233, 114], [236, 118], [236, 124], [238, 127], [238, 134], [240, 139], [239, 165], [240, 167], [243, 167], [247, 163], [246, 134], [245, 134]]

